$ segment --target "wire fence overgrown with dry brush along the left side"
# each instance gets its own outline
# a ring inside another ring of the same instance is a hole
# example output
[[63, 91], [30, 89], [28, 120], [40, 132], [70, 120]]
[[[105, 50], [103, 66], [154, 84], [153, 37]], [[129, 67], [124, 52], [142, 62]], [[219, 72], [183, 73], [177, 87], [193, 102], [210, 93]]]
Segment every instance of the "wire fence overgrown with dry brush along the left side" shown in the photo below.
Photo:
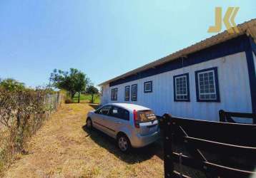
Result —
[[60, 93], [0, 90], [0, 172], [61, 105]]

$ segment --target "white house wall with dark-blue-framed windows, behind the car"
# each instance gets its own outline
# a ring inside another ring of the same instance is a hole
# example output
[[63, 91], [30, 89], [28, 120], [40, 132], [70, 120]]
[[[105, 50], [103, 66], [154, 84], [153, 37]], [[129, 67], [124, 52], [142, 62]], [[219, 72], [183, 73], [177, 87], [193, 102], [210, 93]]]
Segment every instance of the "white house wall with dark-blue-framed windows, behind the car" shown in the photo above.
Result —
[[[220, 103], [197, 102], [195, 71], [217, 67], [220, 88]], [[174, 102], [173, 76], [189, 73], [190, 102]], [[152, 80], [152, 93], [144, 93], [144, 82]], [[138, 85], [137, 101], [124, 101], [124, 87]], [[134, 103], [152, 108], [157, 115], [170, 113], [177, 117], [218, 121], [219, 110], [252, 112], [250, 82], [245, 52], [197, 63], [192, 66], [133, 80], [120, 85], [103, 86], [102, 104]], [[118, 88], [117, 100], [110, 100], [112, 88]]]

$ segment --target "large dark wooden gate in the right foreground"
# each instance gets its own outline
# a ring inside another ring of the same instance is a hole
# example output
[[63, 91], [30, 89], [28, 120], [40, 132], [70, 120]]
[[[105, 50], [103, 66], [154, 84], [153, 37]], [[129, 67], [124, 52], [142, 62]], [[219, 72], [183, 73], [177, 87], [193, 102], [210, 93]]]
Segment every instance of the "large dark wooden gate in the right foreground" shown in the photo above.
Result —
[[256, 176], [256, 125], [165, 114], [162, 127], [164, 177], [189, 177], [184, 174], [186, 167], [206, 177]]

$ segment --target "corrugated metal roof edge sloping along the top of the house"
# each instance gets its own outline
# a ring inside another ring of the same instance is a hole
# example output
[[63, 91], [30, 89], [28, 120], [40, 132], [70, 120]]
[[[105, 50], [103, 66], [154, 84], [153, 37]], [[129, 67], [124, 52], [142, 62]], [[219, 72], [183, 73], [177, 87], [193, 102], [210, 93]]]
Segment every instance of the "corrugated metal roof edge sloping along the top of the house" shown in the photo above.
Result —
[[129, 75], [134, 75], [143, 70], [147, 70], [149, 68], [154, 68], [155, 66], [159, 66], [163, 63], [167, 63], [169, 61], [175, 60], [177, 58], [181, 58], [187, 56], [189, 53], [195, 53], [196, 51], [201, 51], [204, 48], [209, 48], [210, 46], [214, 46], [218, 43], [222, 43], [224, 41], [230, 40], [237, 36], [241, 36], [243, 34], [247, 34], [247, 36], [252, 36], [256, 43], [256, 19], [252, 19], [245, 23], [241, 23], [237, 26], [239, 29], [239, 33], [228, 33], [227, 30], [222, 33], [218, 33], [215, 36], [211, 36], [210, 38], [206, 38], [203, 41], [193, 44], [187, 48], [183, 48], [180, 51], [170, 54], [169, 56], [165, 56], [164, 58], [159, 58], [157, 61], [153, 61], [152, 63], [147, 63], [146, 65], [136, 68], [134, 70], [130, 70], [127, 73], [117, 76], [116, 78], [112, 78], [110, 80], [105, 81], [104, 83], [100, 83], [99, 85], [106, 85], [114, 80], [118, 80], [120, 78], [125, 78]]

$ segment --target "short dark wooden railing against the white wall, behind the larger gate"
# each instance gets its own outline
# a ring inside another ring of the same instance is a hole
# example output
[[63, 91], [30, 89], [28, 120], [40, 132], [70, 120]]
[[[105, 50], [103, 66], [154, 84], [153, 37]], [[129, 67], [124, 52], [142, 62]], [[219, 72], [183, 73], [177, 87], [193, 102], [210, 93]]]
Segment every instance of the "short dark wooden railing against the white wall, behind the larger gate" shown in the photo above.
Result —
[[244, 119], [252, 119], [253, 124], [256, 124], [256, 114], [253, 114], [253, 113], [226, 112], [225, 110], [220, 110], [219, 117], [220, 117], [220, 122], [235, 123], [235, 120], [232, 117], [240, 117]]

